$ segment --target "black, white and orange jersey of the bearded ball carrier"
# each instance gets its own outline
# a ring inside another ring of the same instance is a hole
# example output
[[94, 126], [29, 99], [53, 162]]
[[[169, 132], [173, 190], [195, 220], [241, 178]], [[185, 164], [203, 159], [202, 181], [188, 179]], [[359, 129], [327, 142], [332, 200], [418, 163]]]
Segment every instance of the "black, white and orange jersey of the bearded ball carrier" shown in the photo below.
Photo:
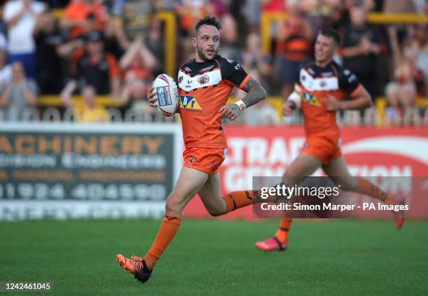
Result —
[[226, 148], [220, 108], [234, 87], [242, 88], [250, 76], [231, 59], [220, 55], [208, 62], [190, 60], [180, 66], [180, 117], [186, 148]]

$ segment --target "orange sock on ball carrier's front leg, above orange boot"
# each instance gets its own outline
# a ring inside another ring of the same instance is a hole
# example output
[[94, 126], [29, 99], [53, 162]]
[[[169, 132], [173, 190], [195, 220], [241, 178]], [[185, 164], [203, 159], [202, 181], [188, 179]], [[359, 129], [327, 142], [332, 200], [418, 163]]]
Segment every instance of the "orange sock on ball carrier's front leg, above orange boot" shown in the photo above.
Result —
[[157, 232], [155, 241], [153, 241], [152, 247], [144, 256], [144, 260], [148, 265], [148, 268], [153, 268], [153, 265], [159, 260], [164, 253], [166, 247], [171, 243], [174, 236], [180, 227], [181, 218], [175, 215], [165, 214], [162, 220], [161, 227]]

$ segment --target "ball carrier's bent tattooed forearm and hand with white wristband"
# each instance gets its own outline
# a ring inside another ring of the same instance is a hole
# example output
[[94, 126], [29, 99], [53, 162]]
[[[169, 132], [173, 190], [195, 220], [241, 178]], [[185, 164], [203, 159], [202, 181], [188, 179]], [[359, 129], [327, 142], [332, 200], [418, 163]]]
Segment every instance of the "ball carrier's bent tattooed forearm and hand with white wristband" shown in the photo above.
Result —
[[220, 108], [222, 117], [229, 120], [235, 120], [241, 114], [243, 109], [257, 104], [262, 99], [266, 98], [267, 92], [254, 78], [248, 79], [247, 83], [242, 87], [242, 90], [248, 92], [247, 96], [235, 104], [224, 105]]

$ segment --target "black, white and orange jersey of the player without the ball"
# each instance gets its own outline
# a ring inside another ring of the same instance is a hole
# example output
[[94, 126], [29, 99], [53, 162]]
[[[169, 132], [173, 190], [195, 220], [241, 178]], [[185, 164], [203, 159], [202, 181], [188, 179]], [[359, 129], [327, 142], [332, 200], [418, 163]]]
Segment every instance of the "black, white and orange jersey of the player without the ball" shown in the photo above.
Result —
[[322, 99], [330, 94], [341, 100], [345, 92], [352, 96], [360, 87], [357, 77], [336, 62], [322, 68], [315, 62], [308, 62], [300, 67], [298, 73], [295, 90], [301, 96], [306, 135], [319, 132], [339, 134], [336, 111], [327, 111]]

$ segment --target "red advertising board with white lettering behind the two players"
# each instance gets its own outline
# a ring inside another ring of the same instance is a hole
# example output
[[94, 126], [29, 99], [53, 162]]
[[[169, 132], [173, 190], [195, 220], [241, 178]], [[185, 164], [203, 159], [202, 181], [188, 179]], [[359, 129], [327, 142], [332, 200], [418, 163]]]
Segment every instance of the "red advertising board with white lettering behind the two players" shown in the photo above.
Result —
[[[229, 148], [220, 168], [223, 193], [252, 189], [252, 176], [281, 176], [304, 142], [303, 127], [235, 126], [224, 131]], [[343, 127], [341, 134], [342, 152], [355, 176], [428, 176], [428, 127]], [[195, 198], [185, 216], [209, 214]], [[252, 209], [224, 218], [252, 218]]]

